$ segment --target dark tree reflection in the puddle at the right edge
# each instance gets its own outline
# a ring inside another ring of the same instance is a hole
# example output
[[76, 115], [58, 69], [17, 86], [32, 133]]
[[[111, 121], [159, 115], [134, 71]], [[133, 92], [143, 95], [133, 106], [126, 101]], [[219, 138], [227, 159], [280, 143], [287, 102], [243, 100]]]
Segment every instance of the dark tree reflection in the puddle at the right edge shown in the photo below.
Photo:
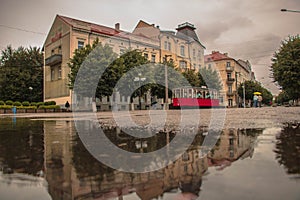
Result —
[[276, 159], [289, 174], [300, 174], [300, 123], [289, 123], [276, 137]]

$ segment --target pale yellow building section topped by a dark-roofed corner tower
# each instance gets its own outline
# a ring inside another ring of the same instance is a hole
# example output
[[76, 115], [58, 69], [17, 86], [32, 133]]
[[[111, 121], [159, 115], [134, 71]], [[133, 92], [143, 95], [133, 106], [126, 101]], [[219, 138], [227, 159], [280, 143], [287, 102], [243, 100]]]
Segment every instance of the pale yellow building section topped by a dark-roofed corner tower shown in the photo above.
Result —
[[159, 26], [139, 21], [133, 34], [143, 35], [156, 40], [160, 46], [160, 61], [172, 59], [182, 71], [199, 71], [204, 66], [204, 49], [193, 24], [178, 25], [174, 31], [160, 30]]

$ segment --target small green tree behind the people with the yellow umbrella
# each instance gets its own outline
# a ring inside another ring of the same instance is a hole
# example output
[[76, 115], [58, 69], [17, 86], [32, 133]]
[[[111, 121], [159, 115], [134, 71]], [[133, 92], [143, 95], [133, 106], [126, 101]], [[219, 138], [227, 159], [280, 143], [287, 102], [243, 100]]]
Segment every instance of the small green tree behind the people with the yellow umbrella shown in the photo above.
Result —
[[[266, 88], [262, 87], [261, 84], [255, 81], [245, 81], [245, 100], [252, 100], [254, 92], [260, 92], [263, 97], [263, 103], [269, 104], [272, 99], [272, 93]], [[243, 83], [241, 83], [238, 87], [238, 95], [243, 98]]]

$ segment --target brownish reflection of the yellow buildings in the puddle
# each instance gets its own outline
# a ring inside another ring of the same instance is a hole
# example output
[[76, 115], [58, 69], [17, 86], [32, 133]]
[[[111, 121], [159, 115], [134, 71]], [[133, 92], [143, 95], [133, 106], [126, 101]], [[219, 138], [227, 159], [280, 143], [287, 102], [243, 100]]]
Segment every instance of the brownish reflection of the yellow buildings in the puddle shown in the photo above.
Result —
[[[222, 169], [238, 159], [251, 157], [258, 133], [261, 131], [224, 130], [214, 150], [204, 157], [200, 156], [199, 145], [204, 136], [199, 134], [190, 149], [166, 168], [134, 174], [98, 162], [85, 149], [72, 122], [46, 121], [44, 149], [49, 193], [53, 199], [123, 199], [127, 195], [146, 200], [168, 195], [196, 199], [208, 168]], [[132, 152], [139, 152], [140, 148], [144, 152], [153, 151], [173, 137], [160, 133], [152, 140], [138, 143], [120, 130], [113, 130], [110, 135], [113, 143]], [[145, 142], [147, 145], [143, 145]]]

